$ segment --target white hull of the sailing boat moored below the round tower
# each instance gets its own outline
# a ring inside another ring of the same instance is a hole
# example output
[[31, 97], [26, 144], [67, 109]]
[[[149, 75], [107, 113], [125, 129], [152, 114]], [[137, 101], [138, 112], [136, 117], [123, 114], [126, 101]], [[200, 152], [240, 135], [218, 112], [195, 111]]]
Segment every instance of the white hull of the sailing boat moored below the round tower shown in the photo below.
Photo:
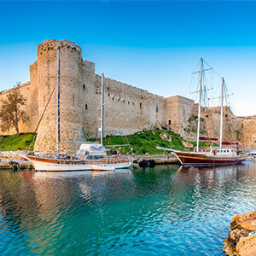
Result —
[[[67, 165], [67, 164], [54, 164], [54, 163], [45, 163], [37, 160], [31, 160], [32, 165], [36, 171], [43, 172], [70, 172], [70, 171], [93, 171], [95, 170], [92, 166], [96, 165]], [[102, 165], [99, 165], [102, 166]], [[105, 166], [113, 167], [114, 169], [124, 169], [131, 166], [131, 162], [127, 163], [118, 163], [118, 164], [106, 164]]]

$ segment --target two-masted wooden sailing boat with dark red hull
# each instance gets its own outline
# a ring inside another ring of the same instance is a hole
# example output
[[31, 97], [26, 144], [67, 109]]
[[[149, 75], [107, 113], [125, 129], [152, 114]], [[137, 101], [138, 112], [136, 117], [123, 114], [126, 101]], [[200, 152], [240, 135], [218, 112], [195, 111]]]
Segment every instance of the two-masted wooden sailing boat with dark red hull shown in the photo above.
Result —
[[238, 154], [236, 148], [223, 148], [223, 99], [224, 99], [224, 78], [222, 78], [221, 90], [221, 117], [220, 117], [220, 139], [219, 148], [199, 148], [200, 138], [200, 121], [201, 121], [201, 91], [202, 91], [202, 67], [203, 59], [201, 58], [201, 71], [200, 71], [200, 90], [199, 90], [199, 107], [197, 119], [197, 139], [195, 152], [183, 152], [174, 150], [172, 148], [161, 148], [172, 152], [177, 156], [177, 159], [183, 166], [224, 166], [241, 163], [247, 159], [248, 154]]

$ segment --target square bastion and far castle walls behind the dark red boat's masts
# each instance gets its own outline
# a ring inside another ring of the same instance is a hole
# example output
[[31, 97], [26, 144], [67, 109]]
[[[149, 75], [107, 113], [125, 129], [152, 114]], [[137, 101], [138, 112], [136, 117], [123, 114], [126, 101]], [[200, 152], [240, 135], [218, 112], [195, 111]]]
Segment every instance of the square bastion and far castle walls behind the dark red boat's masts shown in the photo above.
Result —
[[[166, 124], [170, 125], [172, 131], [188, 140], [196, 140], [197, 115], [198, 103], [195, 104], [194, 101], [183, 96], [166, 98]], [[244, 140], [248, 134], [246, 129], [251, 130], [252, 133], [253, 129], [250, 127], [254, 122], [256, 126], [256, 117], [255, 120], [251, 118], [243, 120], [236, 117], [230, 108], [224, 107], [223, 140], [230, 143], [247, 143], [247, 140]], [[201, 108], [201, 137], [219, 138], [219, 136], [220, 107]]]

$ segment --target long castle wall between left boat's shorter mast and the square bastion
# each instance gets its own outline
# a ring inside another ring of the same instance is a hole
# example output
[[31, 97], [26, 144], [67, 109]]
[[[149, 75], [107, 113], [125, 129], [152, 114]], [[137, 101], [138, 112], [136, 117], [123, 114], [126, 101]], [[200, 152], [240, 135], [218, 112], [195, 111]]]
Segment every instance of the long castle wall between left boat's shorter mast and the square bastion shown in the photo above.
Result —
[[153, 128], [156, 121], [164, 124], [165, 99], [123, 84], [105, 79], [105, 125], [108, 135], [126, 135]]

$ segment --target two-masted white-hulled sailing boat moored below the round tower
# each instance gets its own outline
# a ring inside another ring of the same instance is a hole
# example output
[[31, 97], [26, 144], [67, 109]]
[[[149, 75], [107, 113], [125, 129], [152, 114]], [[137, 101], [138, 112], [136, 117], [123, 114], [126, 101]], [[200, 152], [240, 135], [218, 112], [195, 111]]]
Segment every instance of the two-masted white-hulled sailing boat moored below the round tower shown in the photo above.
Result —
[[[32, 162], [36, 171], [85, 171], [96, 169], [120, 169], [131, 166], [132, 158], [123, 155], [107, 155], [107, 149], [102, 145], [103, 139], [103, 108], [104, 108], [104, 74], [102, 73], [102, 113], [101, 113], [101, 143], [83, 143], [73, 159], [62, 158], [60, 148], [60, 48], [58, 49], [57, 77], [57, 126], [56, 126], [56, 155], [55, 157], [38, 157], [22, 155]], [[102, 167], [103, 166], [103, 167]]]

